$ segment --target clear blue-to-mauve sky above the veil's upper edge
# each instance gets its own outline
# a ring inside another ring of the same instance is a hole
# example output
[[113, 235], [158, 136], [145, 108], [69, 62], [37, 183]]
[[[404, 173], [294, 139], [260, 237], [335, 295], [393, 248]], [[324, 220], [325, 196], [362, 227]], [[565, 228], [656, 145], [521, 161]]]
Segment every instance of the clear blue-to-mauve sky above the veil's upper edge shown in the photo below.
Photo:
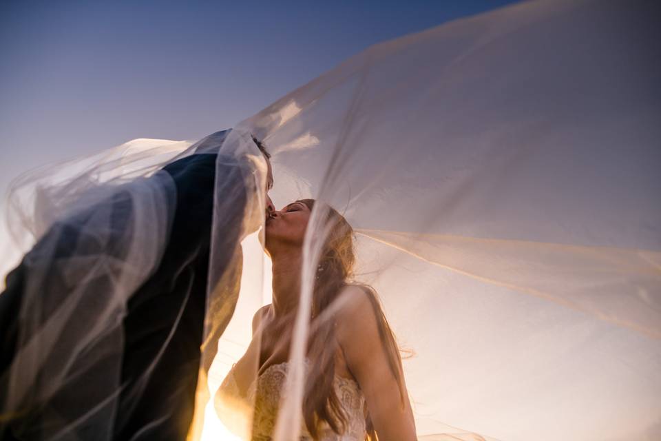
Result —
[[512, 1], [0, 2], [0, 190], [50, 161], [231, 127], [364, 48]]

